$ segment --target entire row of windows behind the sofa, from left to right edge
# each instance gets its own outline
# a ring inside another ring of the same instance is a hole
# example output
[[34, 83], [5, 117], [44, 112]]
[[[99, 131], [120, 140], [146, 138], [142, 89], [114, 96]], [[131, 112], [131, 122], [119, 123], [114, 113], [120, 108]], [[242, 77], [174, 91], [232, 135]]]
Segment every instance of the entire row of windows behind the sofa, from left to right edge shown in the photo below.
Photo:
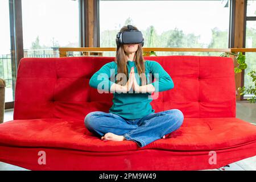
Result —
[[[14, 100], [16, 65], [12, 65], [9, 19], [11, 0], [0, 0], [0, 75], [6, 80], [6, 102]], [[59, 47], [79, 47], [79, 0], [20, 0], [24, 57], [59, 57]], [[256, 47], [256, 1], [247, 0], [246, 48]], [[144, 47], [228, 48], [230, 1], [110, 1], [100, 0], [100, 47], [116, 47], [117, 32], [127, 24], [142, 31]], [[13, 7], [15, 8], [15, 7]], [[89, 9], [90, 10], [90, 9]], [[97, 13], [97, 12], [96, 12]], [[21, 24], [19, 24], [20, 26]], [[81, 26], [84, 26], [81, 24]], [[20, 27], [21, 28], [21, 27]], [[85, 27], [88, 28], [88, 27]], [[11, 31], [10, 31], [11, 30]], [[82, 30], [82, 28], [81, 28]], [[94, 32], [95, 33], [95, 32]], [[233, 38], [232, 38], [233, 39]], [[19, 49], [22, 46], [19, 45]], [[213, 52], [156, 52], [157, 55], [220, 55]], [[115, 52], [104, 52], [115, 56]], [[256, 70], [256, 53], [246, 53], [247, 75]], [[13, 57], [12, 57], [13, 58]]]

